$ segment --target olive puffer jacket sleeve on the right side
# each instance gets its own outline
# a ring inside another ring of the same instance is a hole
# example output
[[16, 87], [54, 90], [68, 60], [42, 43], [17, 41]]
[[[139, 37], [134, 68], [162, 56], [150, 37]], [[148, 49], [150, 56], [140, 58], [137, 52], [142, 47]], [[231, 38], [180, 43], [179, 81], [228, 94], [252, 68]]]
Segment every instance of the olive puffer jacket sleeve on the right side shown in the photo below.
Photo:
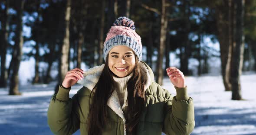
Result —
[[189, 135], [195, 126], [193, 99], [187, 95], [187, 86], [175, 89], [176, 96], [166, 94], [163, 132], [166, 135]]

